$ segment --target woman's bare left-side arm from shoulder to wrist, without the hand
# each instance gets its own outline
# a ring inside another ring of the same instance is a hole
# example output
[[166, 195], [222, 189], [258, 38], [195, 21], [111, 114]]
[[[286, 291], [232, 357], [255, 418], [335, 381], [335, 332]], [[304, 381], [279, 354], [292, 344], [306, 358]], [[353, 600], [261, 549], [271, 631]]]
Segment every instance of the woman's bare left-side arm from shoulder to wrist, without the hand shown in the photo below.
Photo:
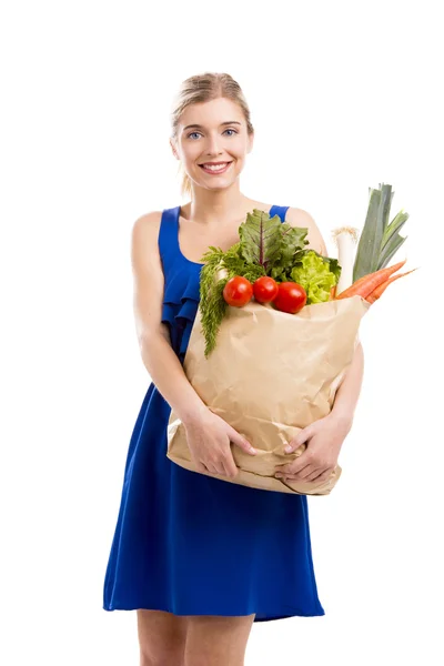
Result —
[[185, 423], [206, 407], [191, 386], [161, 322], [164, 279], [158, 238], [161, 213], [139, 218], [132, 229], [131, 263], [135, 331], [144, 366], [157, 389]]

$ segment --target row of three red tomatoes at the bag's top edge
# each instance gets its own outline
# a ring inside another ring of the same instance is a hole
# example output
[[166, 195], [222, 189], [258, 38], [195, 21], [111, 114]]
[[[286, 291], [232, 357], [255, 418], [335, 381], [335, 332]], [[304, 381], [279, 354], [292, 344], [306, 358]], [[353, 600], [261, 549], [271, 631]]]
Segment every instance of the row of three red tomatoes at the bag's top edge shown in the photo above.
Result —
[[296, 282], [276, 282], [273, 278], [258, 278], [252, 284], [246, 278], [231, 278], [223, 290], [223, 297], [229, 305], [243, 307], [254, 299], [259, 303], [272, 303], [281, 312], [295, 314], [306, 303], [306, 292]]

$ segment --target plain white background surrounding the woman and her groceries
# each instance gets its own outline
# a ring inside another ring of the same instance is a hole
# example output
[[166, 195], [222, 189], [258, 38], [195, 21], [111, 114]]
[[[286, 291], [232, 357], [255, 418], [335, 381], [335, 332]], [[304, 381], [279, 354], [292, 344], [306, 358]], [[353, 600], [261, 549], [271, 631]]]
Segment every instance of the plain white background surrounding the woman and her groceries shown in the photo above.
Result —
[[130, 232], [186, 201], [169, 112], [204, 71], [251, 107], [244, 194], [307, 210], [335, 255], [331, 230], [361, 229], [369, 186], [390, 183], [411, 215], [395, 259], [421, 266], [362, 322], [343, 476], [309, 501], [326, 615], [254, 625], [246, 666], [443, 663], [438, 4], [2, 4], [2, 663], [138, 664], [135, 612], [102, 609], [150, 382]]

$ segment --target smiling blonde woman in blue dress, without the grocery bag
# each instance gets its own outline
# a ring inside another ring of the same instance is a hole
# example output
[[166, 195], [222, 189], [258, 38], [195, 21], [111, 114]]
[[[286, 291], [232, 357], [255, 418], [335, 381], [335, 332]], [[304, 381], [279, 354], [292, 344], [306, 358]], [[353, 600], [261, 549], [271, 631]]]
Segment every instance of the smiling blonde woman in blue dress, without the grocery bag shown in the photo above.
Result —
[[[108, 563], [103, 608], [137, 609], [141, 666], [241, 666], [253, 622], [320, 616], [307, 498], [226, 483], [231, 443], [250, 444], [213, 414], [188, 382], [183, 359], [199, 306], [203, 253], [228, 250], [253, 209], [309, 229], [309, 248], [326, 255], [311, 215], [249, 199], [240, 174], [253, 145], [250, 112], [229, 74], [183, 82], [172, 113], [171, 148], [183, 169], [183, 206], [139, 218], [132, 232], [134, 314], [152, 377], [135, 422]], [[299, 433], [287, 478], [327, 476], [352, 424], [362, 347], [333, 411]], [[167, 457], [171, 407], [183, 422], [200, 472]], [[301, 462], [302, 461], [302, 462]], [[278, 474], [278, 472], [276, 472]]]

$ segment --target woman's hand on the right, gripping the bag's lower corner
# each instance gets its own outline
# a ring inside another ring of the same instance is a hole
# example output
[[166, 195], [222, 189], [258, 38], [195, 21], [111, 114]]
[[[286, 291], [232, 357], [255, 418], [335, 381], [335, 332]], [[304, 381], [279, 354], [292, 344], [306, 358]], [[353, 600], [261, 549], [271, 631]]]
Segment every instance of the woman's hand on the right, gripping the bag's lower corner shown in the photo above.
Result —
[[275, 477], [284, 481], [324, 481], [335, 468], [350, 430], [350, 420], [337, 417], [334, 412], [314, 421], [289, 442], [291, 451], [285, 447], [285, 453], [293, 453], [306, 442], [305, 451], [291, 463], [279, 465]]

